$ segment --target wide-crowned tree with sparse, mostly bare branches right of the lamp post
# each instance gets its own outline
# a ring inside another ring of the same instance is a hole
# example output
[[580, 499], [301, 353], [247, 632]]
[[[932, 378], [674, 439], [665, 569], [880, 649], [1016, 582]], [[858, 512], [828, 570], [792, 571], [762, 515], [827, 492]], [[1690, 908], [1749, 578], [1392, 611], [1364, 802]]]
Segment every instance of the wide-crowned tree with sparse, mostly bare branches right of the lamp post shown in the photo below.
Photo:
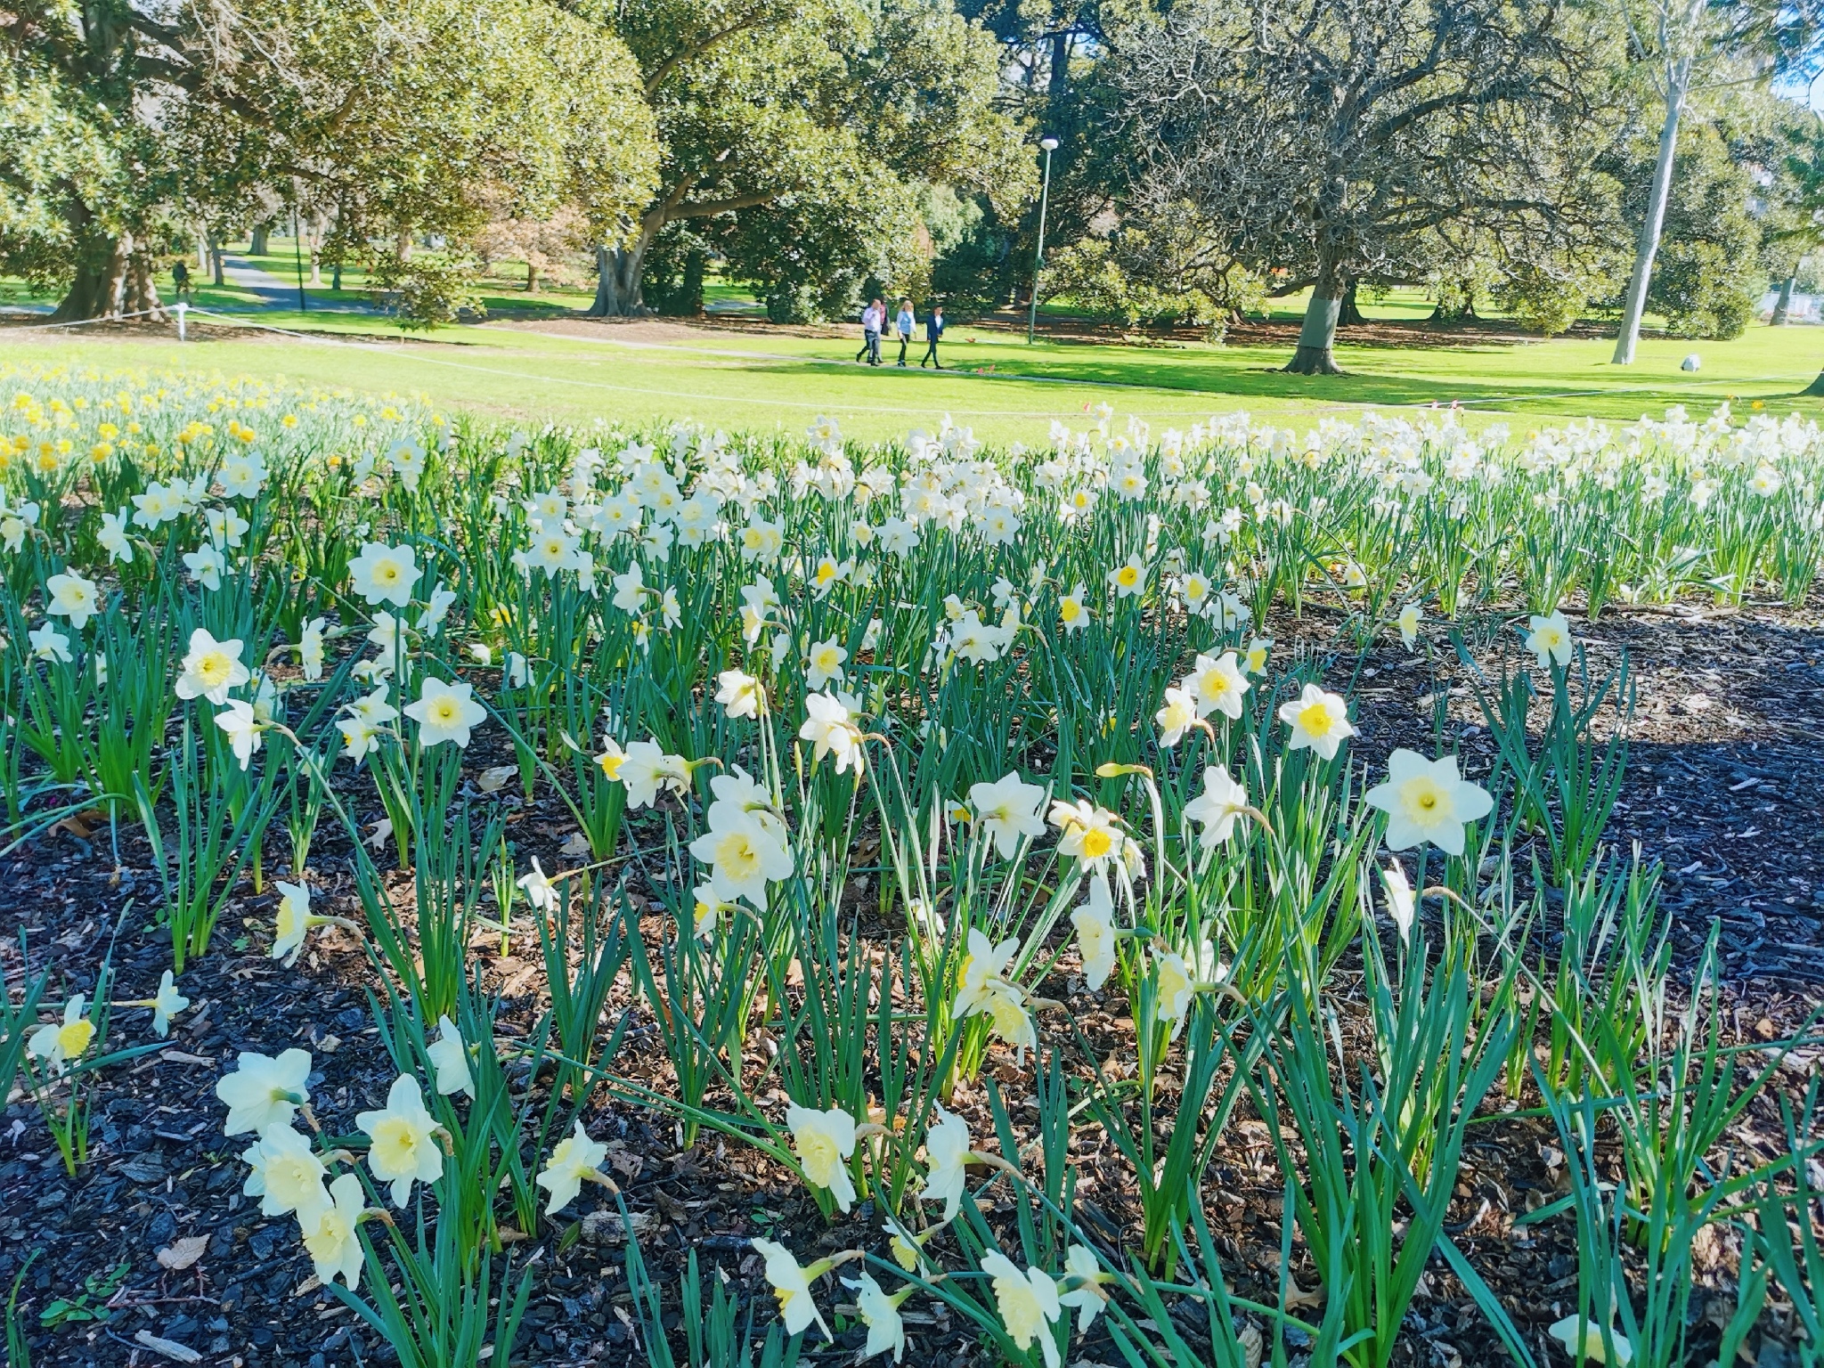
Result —
[[1600, 44], [1549, 0], [1191, 0], [1120, 35], [1107, 80], [1135, 177], [1310, 288], [1286, 368], [1337, 374], [1352, 286], [1425, 279], [1439, 226], [1583, 230]]

